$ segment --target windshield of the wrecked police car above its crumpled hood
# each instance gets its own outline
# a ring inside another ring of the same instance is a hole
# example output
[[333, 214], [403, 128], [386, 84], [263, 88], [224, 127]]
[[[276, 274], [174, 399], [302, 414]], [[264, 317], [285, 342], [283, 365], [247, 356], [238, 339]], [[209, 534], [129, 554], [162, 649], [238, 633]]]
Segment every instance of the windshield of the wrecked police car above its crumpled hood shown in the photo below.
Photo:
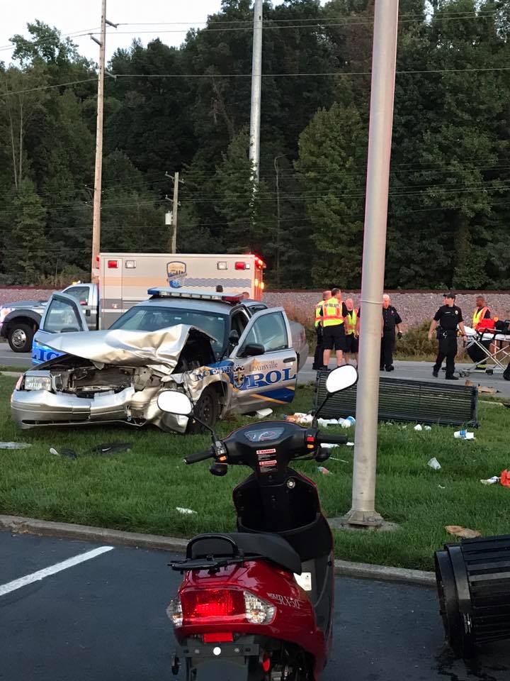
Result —
[[228, 316], [212, 314], [202, 310], [183, 310], [182, 308], [136, 306], [119, 317], [110, 328], [123, 328], [126, 331], [157, 331], [159, 328], [186, 324], [196, 326], [217, 340], [212, 341], [216, 355], [222, 353], [227, 343]]

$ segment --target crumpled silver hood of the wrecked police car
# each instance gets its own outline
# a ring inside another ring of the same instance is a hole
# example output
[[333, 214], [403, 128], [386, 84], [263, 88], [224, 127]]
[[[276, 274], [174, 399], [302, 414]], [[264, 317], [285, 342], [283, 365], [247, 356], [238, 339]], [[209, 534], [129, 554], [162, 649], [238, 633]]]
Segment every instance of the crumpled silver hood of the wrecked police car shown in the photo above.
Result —
[[46, 341], [52, 350], [109, 365], [164, 365], [174, 370], [179, 355], [190, 335], [215, 340], [195, 326], [179, 324], [157, 331], [127, 331], [123, 328], [107, 331], [72, 331], [55, 334]]

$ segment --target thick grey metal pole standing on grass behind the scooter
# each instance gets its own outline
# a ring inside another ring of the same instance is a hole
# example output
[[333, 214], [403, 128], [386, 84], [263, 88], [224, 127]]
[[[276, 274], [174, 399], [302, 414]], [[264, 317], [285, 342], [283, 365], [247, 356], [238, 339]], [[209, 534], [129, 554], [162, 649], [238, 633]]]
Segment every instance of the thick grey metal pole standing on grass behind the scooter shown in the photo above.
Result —
[[351, 511], [347, 524], [380, 526], [375, 511], [379, 355], [384, 288], [386, 223], [392, 144], [398, 0], [375, 0], [370, 96], [370, 128], [363, 236], [360, 377], [356, 399], [356, 438]]

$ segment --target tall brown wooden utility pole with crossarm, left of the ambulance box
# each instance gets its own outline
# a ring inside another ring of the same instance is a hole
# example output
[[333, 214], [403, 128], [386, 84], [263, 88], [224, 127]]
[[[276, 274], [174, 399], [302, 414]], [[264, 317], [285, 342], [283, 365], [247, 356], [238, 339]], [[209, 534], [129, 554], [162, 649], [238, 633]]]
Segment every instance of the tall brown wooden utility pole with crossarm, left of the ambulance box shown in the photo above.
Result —
[[96, 168], [94, 171], [94, 213], [92, 217], [92, 262], [91, 282], [97, 284], [99, 280], [99, 265], [97, 256], [101, 250], [101, 179], [103, 175], [103, 104], [104, 104], [104, 74], [106, 60], [106, 24], [117, 28], [118, 24], [111, 23], [106, 18], [106, 0], [101, 4], [101, 40], [91, 39], [99, 45], [98, 72], [98, 102], [96, 122]]

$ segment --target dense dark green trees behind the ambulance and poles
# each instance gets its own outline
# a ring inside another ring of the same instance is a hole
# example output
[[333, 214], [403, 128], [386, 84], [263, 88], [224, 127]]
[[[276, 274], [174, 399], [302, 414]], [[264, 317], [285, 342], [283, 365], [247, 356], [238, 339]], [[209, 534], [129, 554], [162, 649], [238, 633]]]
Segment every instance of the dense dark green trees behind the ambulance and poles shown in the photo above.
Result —
[[[361, 281], [373, 0], [264, 5], [261, 173], [252, 8], [179, 48], [133, 40], [105, 82], [101, 250], [255, 250], [272, 287]], [[86, 279], [97, 67], [34, 21], [0, 62], [0, 283]], [[400, 0], [387, 287], [510, 288], [510, 4]], [[0, 52], [1, 58], [1, 52]]]

